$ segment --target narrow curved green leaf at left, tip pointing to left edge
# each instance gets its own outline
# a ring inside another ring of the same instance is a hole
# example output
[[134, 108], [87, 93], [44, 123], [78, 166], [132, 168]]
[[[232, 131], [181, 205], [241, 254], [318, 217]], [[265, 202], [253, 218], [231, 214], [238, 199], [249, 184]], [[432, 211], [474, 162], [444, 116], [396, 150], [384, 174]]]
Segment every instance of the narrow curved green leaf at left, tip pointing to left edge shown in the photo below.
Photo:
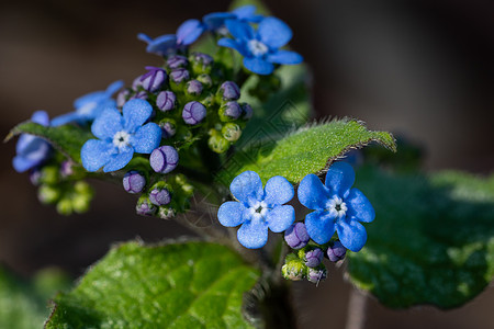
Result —
[[58, 127], [45, 127], [43, 125], [26, 121], [16, 125], [7, 136], [5, 141], [20, 134], [31, 134], [49, 141], [57, 150], [70, 158], [76, 163], [81, 163], [80, 149], [90, 138], [91, 133], [82, 131], [74, 125]]

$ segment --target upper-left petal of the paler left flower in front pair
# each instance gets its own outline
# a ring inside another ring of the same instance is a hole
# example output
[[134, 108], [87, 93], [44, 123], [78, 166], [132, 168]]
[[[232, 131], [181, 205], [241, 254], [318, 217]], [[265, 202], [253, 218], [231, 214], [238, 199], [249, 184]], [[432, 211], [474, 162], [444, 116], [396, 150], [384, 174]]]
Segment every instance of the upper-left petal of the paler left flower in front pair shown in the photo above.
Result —
[[233, 196], [244, 203], [244, 205], [254, 204], [261, 201], [265, 196], [262, 182], [259, 174], [255, 171], [244, 171], [237, 175], [229, 185]]

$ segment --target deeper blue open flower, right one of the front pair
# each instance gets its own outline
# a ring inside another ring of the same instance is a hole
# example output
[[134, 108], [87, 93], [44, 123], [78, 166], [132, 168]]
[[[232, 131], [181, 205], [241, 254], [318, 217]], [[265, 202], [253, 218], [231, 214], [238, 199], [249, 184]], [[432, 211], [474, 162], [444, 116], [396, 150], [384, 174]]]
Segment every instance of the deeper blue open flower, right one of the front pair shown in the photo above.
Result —
[[315, 174], [307, 174], [299, 186], [299, 201], [310, 209], [305, 217], [308, 236], [317, 243], [330, 240], [335, 230], [345, 248], [359, 251], [367, 241], [366, 228], [359, 223], [374, 220], [374, 208], [358, 189], [351, 189], [355, 171], [346, 162], [335, 162], [323, 185]]

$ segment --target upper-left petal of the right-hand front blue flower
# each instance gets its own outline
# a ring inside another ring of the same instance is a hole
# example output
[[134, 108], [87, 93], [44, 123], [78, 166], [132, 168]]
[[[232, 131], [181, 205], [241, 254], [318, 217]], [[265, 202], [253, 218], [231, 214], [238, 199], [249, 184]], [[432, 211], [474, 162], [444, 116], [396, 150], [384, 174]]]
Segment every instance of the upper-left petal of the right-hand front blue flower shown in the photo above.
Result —
[[329, 191], [313, 173], [307, 174], [300, 182], [297, 194], [300, 203], [310, 209], [325, 209], [329, 197]]

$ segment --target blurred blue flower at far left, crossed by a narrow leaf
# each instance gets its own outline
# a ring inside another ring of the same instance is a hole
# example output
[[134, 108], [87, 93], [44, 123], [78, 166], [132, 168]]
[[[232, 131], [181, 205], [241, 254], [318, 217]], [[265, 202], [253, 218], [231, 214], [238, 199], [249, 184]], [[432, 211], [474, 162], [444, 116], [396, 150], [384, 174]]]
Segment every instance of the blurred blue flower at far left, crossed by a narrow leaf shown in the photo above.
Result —
[[[45, 111], [36, 111], [31, 121], [44, 126], [49, 125], [48, 114]], [[22, 134], [15, 145], [16, 155], [12, 159], [12, 166], [18, 172], [23, 172], [42, 164], [52, 155], [52, 146], [44, 139]]]

